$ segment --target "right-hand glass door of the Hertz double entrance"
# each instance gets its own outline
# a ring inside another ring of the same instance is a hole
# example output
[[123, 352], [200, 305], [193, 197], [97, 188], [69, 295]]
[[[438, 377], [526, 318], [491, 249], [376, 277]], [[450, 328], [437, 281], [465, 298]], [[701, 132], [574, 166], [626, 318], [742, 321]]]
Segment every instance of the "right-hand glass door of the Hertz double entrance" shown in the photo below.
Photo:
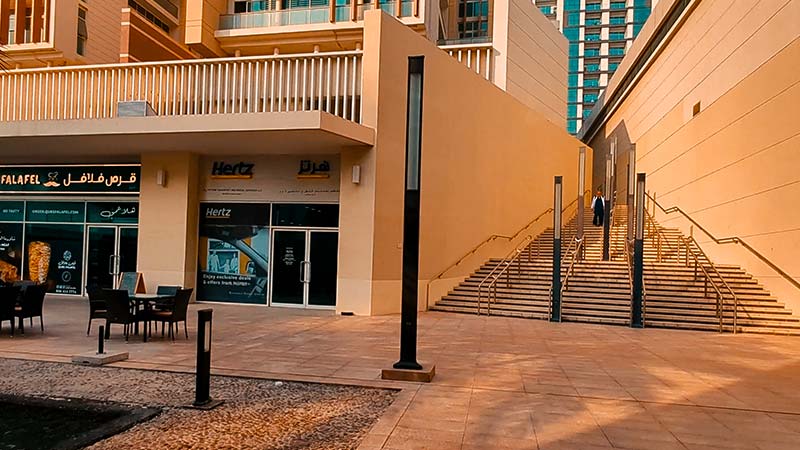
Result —
[[308, 258], [308, 306], [336, 306], [336, 279], [339, 262], [339, 233], [311, 231]]

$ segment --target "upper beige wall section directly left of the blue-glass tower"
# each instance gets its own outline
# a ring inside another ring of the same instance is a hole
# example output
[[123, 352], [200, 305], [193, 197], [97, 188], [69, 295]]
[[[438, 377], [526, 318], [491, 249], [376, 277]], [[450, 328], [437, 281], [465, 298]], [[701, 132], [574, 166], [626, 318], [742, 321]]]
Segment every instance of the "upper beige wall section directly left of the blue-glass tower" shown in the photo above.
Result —
[[567, 39], [530, 0], [496, 0], [495, 82], [551, 122], [567, 124]]

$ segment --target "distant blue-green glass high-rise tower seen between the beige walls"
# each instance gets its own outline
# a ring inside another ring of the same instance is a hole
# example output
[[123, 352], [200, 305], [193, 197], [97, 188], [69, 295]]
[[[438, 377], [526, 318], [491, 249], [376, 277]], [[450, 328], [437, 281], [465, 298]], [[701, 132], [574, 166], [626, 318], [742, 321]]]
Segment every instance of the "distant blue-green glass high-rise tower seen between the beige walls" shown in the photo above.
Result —
[[651, 0], [534, 0], [569, 40], [567, 131], [576, 134], [633, 39]]

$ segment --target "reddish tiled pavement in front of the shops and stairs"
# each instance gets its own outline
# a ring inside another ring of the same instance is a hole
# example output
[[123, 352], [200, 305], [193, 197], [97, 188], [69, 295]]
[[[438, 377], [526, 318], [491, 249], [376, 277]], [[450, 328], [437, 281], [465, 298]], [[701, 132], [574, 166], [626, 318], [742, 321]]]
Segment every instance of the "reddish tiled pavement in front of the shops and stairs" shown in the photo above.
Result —
[[[388, 383], [399, 317], [236, 305], [214, 309], [215, 373], [401, 387], [363, 449], [800, 449], [800, 338], [420, 316], [432, 384]], [[195, 336], [196, 305], [190, 337]], [[85, 301], [48, 298], [0, 356], [66, 361], [96, 345]], [[193, 340], [108, 344], [120, 367], [192, 371]], [[79, 382], [79, 380], [74, 380]]]

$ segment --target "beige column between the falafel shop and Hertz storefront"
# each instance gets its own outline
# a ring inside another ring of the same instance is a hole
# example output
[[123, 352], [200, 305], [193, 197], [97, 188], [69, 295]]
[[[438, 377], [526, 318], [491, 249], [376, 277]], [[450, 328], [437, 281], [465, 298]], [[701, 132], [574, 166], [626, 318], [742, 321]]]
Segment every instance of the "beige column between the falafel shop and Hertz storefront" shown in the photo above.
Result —
[[[164, 186], [156, 183], [159, 171], [166, 174]], [[138, 271], [148, 292], [160, 284], [195, 286], [199, 181], [195, 154], [142, 155]]]

